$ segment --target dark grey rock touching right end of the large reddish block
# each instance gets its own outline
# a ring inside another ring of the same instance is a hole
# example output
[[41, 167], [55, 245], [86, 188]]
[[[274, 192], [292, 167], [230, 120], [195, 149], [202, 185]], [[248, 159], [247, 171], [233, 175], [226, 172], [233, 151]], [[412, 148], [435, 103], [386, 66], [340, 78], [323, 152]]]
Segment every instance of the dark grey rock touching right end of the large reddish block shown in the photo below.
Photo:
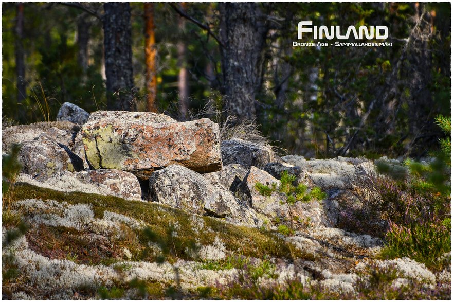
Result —
[[263, 169], [267, 163], [275, 161], [274, 152], [269, 145], [233, 138], [222, 141], [221, 148], [224, 165], [239, 164], [247, 169], [251, 166]]

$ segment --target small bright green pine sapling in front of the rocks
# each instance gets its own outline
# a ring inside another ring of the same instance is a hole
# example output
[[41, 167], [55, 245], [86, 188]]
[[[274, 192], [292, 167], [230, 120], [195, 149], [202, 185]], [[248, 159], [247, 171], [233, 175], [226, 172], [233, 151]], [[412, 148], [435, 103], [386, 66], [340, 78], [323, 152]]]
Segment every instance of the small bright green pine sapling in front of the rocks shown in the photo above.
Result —
[[[279, 194], [285, 194], [285, 199], [280, 200], [280, 204], [286, 204], [289, 209], [289, 219], [290, 226], [289, 230], [284, 227], [280, 227], [281, 233], [286, 233], [285, 235], [293, 235], [293, 219], [294, 219], [294, 206], [297, 202], [310, 202], [312, 200], [322, 200], [326, 198], [325, 192], [319, 187], [314, 187], [310, 191], [307, 191], [308, 187], [304, 184], [298, 184], [294, 186], [293, 183], [296, 181], [296, 176], [289, 174], [288, 171], [282, 171], [280, 174], [280, 184], [273, 183], [271, 186], [266, 186], [261, 183], [255, 184], [255, 189], [257, 189], [260, 194], [266, 197], [273, 196], [273, 193], [277, 192]], [[280, 195], [276, 195], [280, 197]], [[282, 232], [284, 229], [284, 232]]]

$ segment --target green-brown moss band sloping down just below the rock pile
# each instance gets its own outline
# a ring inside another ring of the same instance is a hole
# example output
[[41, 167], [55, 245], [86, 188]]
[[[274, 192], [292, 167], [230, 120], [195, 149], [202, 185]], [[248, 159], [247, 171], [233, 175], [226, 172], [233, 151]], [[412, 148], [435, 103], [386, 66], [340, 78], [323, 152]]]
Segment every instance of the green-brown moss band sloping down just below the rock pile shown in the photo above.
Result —
[[[164, 238], [169, 246], [170, 253], [167, 261], [174, 261], [176, 258], [191, 259], [187, 254], [187, 248], [191, 248], [192, 243], [198, 240], [201, 244], [213, 244], [215, 237], [221, 239], [229, 251], [238, 251], [245, 257], [263, 258], [265, 255], [292, 259], [294, 250], [284, 240], [277, 237], [274, 233], [266, 230], [236, 226], [225, 223], [219, 219], [202, 217], [205, 228], [200, 234], [195, 234], [192, 230], [191, 214], [187, 214], [169, 206], [146, 203], [140, 201], [129, 201], [113, 196], [101, 196], [98, 194], [87, 194], [81, 192], [61, 192], [50, 189], [35, 187], [27, 184], [16, 185], [14, 200], [35, 198], [42, 200], [65, 201], [68, 204], [90, 204], [92, 205], [95, 218], [103, 218], [105, 210], [117, 212], [128, 217], [141, 220], [160, 238]], [[179, 224], [177, 238], [169, 236], [171, 233], [169, 226]], [[138, 243], [134, 250], [128, 242], [120, 243], [120, 246], [130, 248], [137, 259], [147, 259], [153, 257], [143, 251], [144, 246], [148, 245], [149, 238], [143, 231], [134, 231], [138, 237]], [[141, 250], [140, 250], [141, 249]], [[134, 252], [135, 251], [135, 252]]]

